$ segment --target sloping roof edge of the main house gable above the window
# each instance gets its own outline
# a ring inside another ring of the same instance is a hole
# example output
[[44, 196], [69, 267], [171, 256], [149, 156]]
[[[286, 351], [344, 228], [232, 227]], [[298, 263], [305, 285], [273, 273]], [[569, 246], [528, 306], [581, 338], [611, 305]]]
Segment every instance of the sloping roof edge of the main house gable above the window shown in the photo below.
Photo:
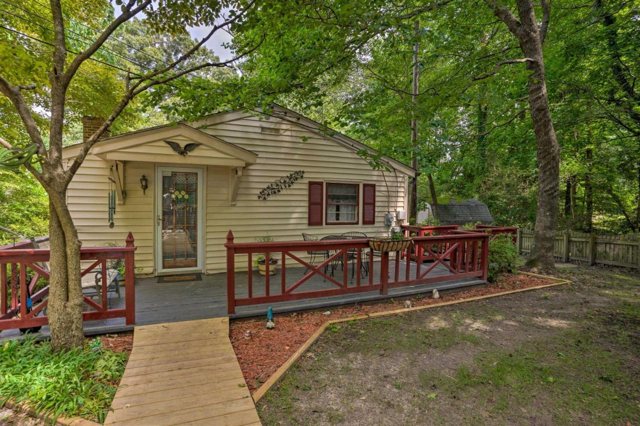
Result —
[[[280, 106], [278, 104], [273, 104], [272, 107], [273, 113], [265, 113], [262, 108], [257, 108], [250, 111], [253, 111], [257, 114], [264, 114], [273, 118], [278, 118], [292, 124], [300, 125], [305, 130], [309, 130], [310, 132], [313, 132], [323, 138], [330, 139], [335, 143], [338, 143], [339, 145], [345, 146], [349, 150], [353, 150], [355, 152], [358, 152], [360, 150], [367, 150], [371, 154], [378, 154], [378, 152], [371, 148], [371, 146], [367, 146], [364, 143], [357, 141], [356, 139], [349, 138], [349, 136], [346, 136], [345, 134], [342, 134], [337, 130], [326, 127], [321, 123], [303, 116], [302, 114], [296, 113], [296, 111], [293, 111], [292, 109]], [[248, 115], [250, 114], [246, 113], [244, 110], [237, 109], [235, 111], [209, 114], [200, 118], [200, 120], [207, 120], [207, 125], [215, 126], [221, 123], [232, 122]], [[412, 177], [415, 177], [415, 175], [417, 175], [417, 171], [411, 166], [408, 166], [403, 162], [397, 161], [396, 159], [393, 159], [391, 157], [387, 157], [386, 155], [383, 155], [381, 157], [381, 161], [386, 162], [392, 169], [401, 171], [406, 175]]]

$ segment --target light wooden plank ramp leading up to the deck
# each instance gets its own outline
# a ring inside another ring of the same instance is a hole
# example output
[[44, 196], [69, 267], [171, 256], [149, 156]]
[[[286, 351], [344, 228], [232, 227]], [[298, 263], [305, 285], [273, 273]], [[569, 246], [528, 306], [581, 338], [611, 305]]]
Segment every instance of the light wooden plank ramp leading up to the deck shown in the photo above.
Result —
[[105, 425], [260, 425], [228, 318], [136, 327]]

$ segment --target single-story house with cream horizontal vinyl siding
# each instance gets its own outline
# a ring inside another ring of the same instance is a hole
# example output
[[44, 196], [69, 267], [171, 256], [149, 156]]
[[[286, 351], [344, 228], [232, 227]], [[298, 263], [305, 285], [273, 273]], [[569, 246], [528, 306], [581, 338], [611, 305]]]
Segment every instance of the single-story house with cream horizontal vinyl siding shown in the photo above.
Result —
[[[318, 237], [351, 231], [387, 233], [385, 216], [407, 210], [408, 180], [415, 171], [392, 159], [384, 159], [392, 171], [374, 171], [357, 154], [370, 148], [319, 128], [276, 106], [269, 115], [214, 114], [198, 122], [103, 139], [93, 146], [67, 192], [83, 245], [122, 244], [131, 231], [141, 274], [216, 273], [225, 271], [223, 244], [229, 230], [236, 242], [255, 241], [259, 235], [300, 241], [303, 232]], [[180, 148], [201, 145], [180, 155], [165, 141], [177, 142]], [[78, 150], [69, 146], [64, 155], [72, 160]], [[291, 187], [267, 200], [258, 198], [261, 189], [298, 170], [304, 171], [303, 178]], [[148, 182], [145, 191], [143, 175]], [[192, 196], [180, 204], [173, 190], [182, 187]], [[322, 217], [312, 212], [314, 220], [309, 211], [311, 187], [323, 190]], [[117, 202], [110, 226], [112, 190]], [[189, 258], [185, 262], [177, 260], [183, 251]], [[238, 270], [246, 270], [246, 258], [237, 262]]]

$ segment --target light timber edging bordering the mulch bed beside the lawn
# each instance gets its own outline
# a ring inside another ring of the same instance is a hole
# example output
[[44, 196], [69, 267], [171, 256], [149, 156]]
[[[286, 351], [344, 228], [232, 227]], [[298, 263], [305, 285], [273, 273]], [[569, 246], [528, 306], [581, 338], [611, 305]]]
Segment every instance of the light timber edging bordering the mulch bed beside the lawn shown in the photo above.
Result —
[[258, 388], [253, 393], [253, 395], [252, 395], [253, 402], [257, 403], [260, 400], [260, 398], [264, 397], [264, 395], [267, 393], [267, 391], [269, 389], [271, 389], [274, 384], [276, 384], [276, 383], [278, 383], [278, 381], [280, 381], [282, 376], [285, 374], [285, 372], [287, 372], [287, 370], [289, 370], [289, 368], [293, 365], [293, 363], [298, 361], [298, 359], [302, 356], [302, 354], [305, 353], [307, 351], [307, 349], [314, 342], [316, 342], [317, 338], [319, 338], [319, 336], [324, 332], [326, 327], [330, 326], [331, 324], [335, 324], [336, 322], [346, 322], [346, 321], [351, 321], [351, 320], [368, 319], [368, 318], [372, 318], [372, 317], [381, 317], [383, 315], [394, 315], [396, 313], [412, 312], [412, 311], [417, 311], [417, 310], [422, 310], [422, 309], [429, 309], [429, 308], [438, 308], [440, 306], [447, 306], [447, 305], [450, 305], [450, 304], [472, 302], [472, 301], [481, 300], [481, 299], [488, 299], [490, 297], [505, 296], [506, 294], [525, 292], [525, 291], [528, 291], [528, 290], [537, 290], [539, 288], [545, 288], [545, 287], [554, 287], [556, 285], [568, 284], [568, 283], [572, 282], [571, 280], [564, 280], [562, 278], [557, 278], [557, 277], [554, 277], [554, 276], [534, 274], [532, 272], [518, 271], [518, 274], [534, 276], [536, 278], [544, 278], [545, 280], [552, 280], [552, 281], [556, 281], [556, 282], [555, 283], [551, 283], [551, 284], [545, 284], [545, 285], [537, 285], [535, 287], [527, 287], [527, 288], [518, 288], [516, 290], [508, 290], [506, 292], [485, 294], [484, 296], [468, 297], [467, 299], [458, 299], [458, 300], [449, 301], [449, 302], [443, 302], [443, 303], [426, 304], [426, 305], [422, 305], [422, 306], [413, 306], [412, 308], [401, 308], [401, 309], [396, 309], [396, 310], [391, 310], [391, 311], [372, 312], [372, 313], [367, 313], [365, 315], [354, 315], [353, 317], [346, 317], [346, 318], [338, 318], [338, 319], [328, 320], [328, 321], [324, 322], [320, 327], [318, 327], [318, 329], [314, 332], [314, 334], [312, 334], [307, 339], [307, 341], [305, 343], [303, 343], [298, 348], [298, 350], [296, 352], [294, 352], [294, 354], [292, 354], [291, 357], [289, 357], [289, 359], [287, 359], [287, 361], [285, 361], [285, 363], [282, 364], [280, 366], [280, 368], [278, 368], [278, 370], [276, 370], [276, 372], [273, 373], [271, 375], [271, 377], [269, 377], [269, 379], [266, 382], [264, 382], [262, 384], [262, 386], [260, 386], [260, 388]]

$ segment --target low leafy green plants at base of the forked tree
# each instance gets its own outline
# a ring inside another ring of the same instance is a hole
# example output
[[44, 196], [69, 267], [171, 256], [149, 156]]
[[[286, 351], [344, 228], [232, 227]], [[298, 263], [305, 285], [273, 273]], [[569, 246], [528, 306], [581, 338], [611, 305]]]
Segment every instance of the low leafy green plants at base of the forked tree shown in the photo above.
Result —
[[100, 339], [72, 351], [48, 341], [8, 340], [0, 346], [0, 403], [8, 398], [54, 417], [104, 422], [127, 356], [103, 349]]

